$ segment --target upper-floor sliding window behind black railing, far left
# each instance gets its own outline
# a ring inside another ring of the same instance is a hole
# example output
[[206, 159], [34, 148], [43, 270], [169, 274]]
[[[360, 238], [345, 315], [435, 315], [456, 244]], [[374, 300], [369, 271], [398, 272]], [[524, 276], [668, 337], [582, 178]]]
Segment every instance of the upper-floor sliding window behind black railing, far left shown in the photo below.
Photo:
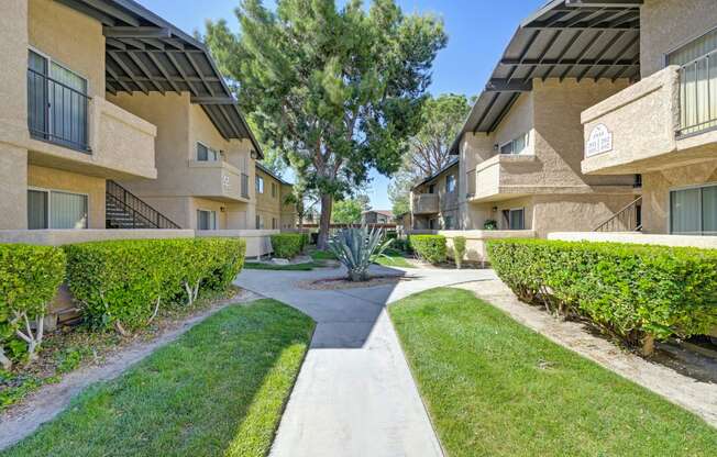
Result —
[[87, 80], [29, 51], [27, 126], [32, 136], [87, 152]]

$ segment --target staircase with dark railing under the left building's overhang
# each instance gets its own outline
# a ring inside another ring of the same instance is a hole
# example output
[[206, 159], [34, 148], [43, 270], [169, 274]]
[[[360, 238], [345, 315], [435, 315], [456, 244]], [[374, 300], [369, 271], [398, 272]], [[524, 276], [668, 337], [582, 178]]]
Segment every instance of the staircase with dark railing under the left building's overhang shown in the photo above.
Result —
[[106, 228], [180, 228], [164, 214], [108, 179], [104, 193]]

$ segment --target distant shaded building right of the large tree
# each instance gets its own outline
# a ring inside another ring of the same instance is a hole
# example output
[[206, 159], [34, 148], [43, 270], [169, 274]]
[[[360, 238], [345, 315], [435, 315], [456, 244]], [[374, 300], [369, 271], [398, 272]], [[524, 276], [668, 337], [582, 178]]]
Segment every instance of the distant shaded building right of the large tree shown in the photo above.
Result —
[[413, 230], [459, 228], [459, 163], [451, 161], [411, 189]]

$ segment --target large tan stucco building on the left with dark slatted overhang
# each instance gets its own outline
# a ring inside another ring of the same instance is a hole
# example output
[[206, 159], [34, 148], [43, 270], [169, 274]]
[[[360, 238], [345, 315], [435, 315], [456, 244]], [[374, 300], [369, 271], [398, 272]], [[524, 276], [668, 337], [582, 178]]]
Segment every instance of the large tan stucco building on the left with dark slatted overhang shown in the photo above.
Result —
[[255, 227], [261, 148], [201, 43], [131, 0], [5, 0], [0, 31], [0, 230]]

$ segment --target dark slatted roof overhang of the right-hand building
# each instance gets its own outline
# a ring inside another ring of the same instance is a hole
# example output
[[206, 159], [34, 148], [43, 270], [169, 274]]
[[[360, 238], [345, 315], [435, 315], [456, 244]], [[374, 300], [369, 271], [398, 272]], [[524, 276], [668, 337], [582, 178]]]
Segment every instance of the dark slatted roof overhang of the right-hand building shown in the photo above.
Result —
[[490, 133], [533, 78], [636, 79], [642, 0], [553, 0], [520, 23], [451, 146]]

